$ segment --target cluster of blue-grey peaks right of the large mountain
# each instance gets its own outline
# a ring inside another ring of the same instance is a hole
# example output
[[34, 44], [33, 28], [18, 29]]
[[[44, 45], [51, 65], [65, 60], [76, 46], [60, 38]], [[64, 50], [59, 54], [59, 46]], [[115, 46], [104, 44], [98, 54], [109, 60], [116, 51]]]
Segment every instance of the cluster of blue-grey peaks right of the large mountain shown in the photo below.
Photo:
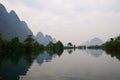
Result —
[[36, 40], [44, 46], [48, 45], [50, 42], [56, 43], [56, 39], [52, 38], [50, 35], [43, 35], [42, 32], [38, 32], [36, 35]]

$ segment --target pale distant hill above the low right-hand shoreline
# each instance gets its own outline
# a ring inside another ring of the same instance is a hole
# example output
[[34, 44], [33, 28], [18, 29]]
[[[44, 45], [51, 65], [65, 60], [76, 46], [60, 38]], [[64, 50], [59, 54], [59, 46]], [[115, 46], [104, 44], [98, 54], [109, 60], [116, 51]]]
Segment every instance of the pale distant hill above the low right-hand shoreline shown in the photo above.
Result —
[[100, 38], [93, 38], [90, 41], [87, 41], [84, 45], [86, 46], [95, 46], [95, 45], [101, 45], [103, 44], [103, 41]]

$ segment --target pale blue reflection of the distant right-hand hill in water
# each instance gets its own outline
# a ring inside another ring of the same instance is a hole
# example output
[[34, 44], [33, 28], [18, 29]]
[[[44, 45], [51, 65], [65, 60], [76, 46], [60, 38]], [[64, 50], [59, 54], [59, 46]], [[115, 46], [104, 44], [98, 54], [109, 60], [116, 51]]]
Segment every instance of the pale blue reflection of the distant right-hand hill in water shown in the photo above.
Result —
[[100, 57], [103, 53], [103, 50], [86, 49], [85, 52], [91, 54], [93, 57]]

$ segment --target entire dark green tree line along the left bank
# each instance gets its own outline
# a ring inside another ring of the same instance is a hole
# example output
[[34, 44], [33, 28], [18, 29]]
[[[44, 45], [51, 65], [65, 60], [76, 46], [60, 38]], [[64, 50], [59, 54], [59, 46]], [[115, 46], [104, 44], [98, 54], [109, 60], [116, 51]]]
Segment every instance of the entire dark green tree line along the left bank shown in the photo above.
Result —
[[32, 38], [32, 35], [29, 35], [24, 42], [20, 42], [18, 37], [12, 38], [10, 41], [2, 38], [0, 34], [0, 54], [2, 53], [11, 53], [11, 52], [19, 52], [19, 53], [31, 53], [31, 52], [39, 52], [43, 50], [49, 50], [55, 53], [63, 52], [63, 44], [58, 41], [57, 43], [50, 42], [47, 46], [43, 46], [39, 44], [36, 40]]

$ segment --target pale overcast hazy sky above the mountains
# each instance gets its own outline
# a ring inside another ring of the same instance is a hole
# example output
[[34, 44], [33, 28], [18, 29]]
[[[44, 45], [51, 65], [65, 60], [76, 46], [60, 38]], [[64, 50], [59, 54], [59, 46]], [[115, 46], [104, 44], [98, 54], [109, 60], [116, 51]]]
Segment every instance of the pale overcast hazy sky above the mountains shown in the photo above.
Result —
[[120, 34], [120, 0], [0, 0], [36, 35], [43, 32], [63, 43], [103, 41]]

